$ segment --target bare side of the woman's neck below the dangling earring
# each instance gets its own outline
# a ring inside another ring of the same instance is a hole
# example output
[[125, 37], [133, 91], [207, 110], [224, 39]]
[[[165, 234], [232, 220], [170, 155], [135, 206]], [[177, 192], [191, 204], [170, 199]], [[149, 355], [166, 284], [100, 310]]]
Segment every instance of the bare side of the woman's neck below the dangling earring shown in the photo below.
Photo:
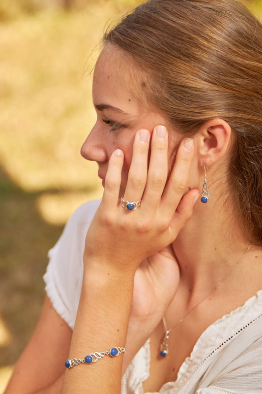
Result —
[[[181, 281], [188, 289], [198, 287], [207, 293], [231, 271], [249, 244], [233, 221], [233, 215], [225, 208], [219, 209], [217, 201], [198, 202], [193, 217], [173, 243]], [[250, 250], [243, 261], [250, 261], [251, 254]]]

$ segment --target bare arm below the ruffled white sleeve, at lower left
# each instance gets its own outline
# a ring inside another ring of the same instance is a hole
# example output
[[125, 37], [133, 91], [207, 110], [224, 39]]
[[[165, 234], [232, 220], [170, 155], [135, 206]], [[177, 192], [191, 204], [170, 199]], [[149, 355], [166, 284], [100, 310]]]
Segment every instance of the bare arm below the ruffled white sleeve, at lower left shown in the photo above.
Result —
[[32, 394], [53, 384], [64, 372], [72, 330], [46, 296], [35, 331], [18, 360], [5, 394]]

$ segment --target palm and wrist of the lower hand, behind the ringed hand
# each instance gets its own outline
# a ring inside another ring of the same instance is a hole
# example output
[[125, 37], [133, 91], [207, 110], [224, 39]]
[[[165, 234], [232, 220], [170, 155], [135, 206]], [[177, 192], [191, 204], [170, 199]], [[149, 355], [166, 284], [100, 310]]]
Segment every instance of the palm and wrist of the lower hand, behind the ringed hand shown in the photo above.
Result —
[[138, 267], [126, 337], [122, 373], [160, 323], [179, 283], [179, 266], [171, 245]]

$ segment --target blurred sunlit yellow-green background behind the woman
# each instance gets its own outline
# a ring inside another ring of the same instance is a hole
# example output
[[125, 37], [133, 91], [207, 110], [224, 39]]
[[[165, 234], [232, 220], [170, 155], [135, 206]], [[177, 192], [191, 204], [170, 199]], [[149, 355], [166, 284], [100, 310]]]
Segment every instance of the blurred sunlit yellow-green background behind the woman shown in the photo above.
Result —
[[138, 2], [0, 0], [0, 394], [41, 312], [47, 251], [101, 197], [79, 153], [95, 121], [85, 70], [104, 27]]

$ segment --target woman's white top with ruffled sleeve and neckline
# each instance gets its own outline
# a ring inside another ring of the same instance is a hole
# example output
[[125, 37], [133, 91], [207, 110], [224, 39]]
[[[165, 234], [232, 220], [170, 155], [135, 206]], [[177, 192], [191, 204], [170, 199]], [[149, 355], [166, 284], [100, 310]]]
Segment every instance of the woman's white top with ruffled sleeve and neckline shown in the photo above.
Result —
[[[72, 329], [81, 293], [86, 233], [99, 202], [82, 205], [49, 251], [46, 292]], [[149, 394], [143, 391], [149, 366], [147, 340], [122, 378], [121, 394]], [[166, 383], [159, 393], [262, 394], [262, 291], [209, 326], [181, 365], [177, 380]]]

